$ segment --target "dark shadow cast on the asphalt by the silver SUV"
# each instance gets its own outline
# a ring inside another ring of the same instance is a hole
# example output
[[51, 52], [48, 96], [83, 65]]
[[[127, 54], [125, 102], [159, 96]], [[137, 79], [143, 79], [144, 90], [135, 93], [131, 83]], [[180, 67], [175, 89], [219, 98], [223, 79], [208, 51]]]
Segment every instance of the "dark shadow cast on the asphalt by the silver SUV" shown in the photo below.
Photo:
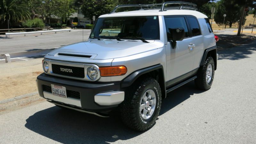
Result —
[[[170, 92], [163, 100], [160, 115], [201, 92], [195, 89], [193, 82]], [[132, 139], [143, 133], [125, 127], [118, 112], [102, 118], [56, 106], [36, 112], [26, 122], [25, 127], [29, 130], [60, 143], [108, 143]]]

